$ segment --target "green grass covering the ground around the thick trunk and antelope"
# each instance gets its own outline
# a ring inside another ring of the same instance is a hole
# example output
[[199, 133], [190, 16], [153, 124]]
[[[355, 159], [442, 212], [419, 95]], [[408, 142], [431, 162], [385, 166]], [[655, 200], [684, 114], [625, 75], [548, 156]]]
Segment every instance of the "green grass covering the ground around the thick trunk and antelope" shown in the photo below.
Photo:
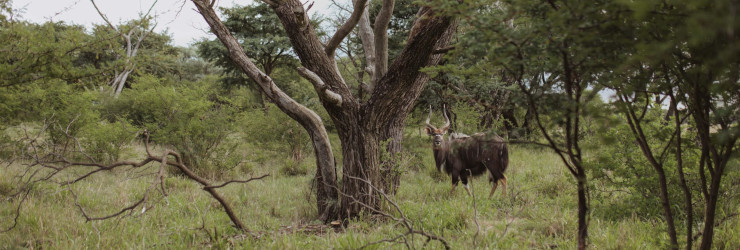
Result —
[[[420, 154], [420, 161], [407, 167], [393, 199], [416, 229], [443, 237], [453, 249], [574, 248], [575, 185], [559, 158], [545, 150], [517, 145], [510, 153], [506, 197], [497, 192], [488, 199], [490, 185], [485, 176], [472, 183], [475, 199], [462, 188], [450, 195], [449, 177], [436, 172], [429, 152]], [[136, 152], [127, 157], [133, 155]], [[4, 167], [0, 171], [0, 192], [22, 170], [18, 164]], [[107, 215], [139, 199], [151, 183], [153, 171], [101, 173], [76, 184], [73, 191], [85, 211]], [[251, 171], [255, 176], [271, 176], [231, 185], [221, 192], [247, 227], [261, 234], [257, 240], [237, 232], [218, 203], [195, 183], [170, 176], [164, 182], [168, 196], [153, 194], [153, 209], [145, 213], [137, 209], [130, 216], [93, 222], [85, 221], [70, 190], [41, 184], [24, 203], [18, 226], [0, 234], [0, 248], [346, 249], [405, 232], [401, 224], [377, 216], [359, 219], [338, 231], [310, 226], [318, 223], [309, 195], [311, 173], [288, 176], [280, 167], [269, 164]], [[56, 179], [65, 177], [69, 176]], [[12, 204], [0, 203], [2, 228], [12, 223], [13, 211]], [[739, 220], [734, 219], [718, 228], [718, 247], [740, 247], [738, 232], [732, 229], [738, 225]], [[662, 244], [668, 241], [662, 221], [639, 216], [617, 221], [592, 217], [589, 235], [595, 249], [664, 248]], [[420, 236], [409, 241], [415, 247], [442, 248], [438, 242], [425, 245], [425, 238]], [[371, 245], [389, 247], [404, 245]]]

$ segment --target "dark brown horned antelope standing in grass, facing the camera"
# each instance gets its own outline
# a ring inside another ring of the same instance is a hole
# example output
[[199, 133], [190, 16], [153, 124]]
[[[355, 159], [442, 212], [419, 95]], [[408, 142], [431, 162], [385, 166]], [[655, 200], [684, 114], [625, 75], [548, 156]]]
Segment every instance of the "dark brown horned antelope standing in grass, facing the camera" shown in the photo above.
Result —
[[504, 139], [496, 134], [476, 133], [472, 136], [453, 133], [448, 136], [447, 140], [444, 135], [450, 128], [450, 118], [447, 117], [443, 108], [442, 114], [445, 117], [445, 125], [436, 128], [429, 124], [432, 117], [432, 107], [429, 107], [429, 116], [426, 120], [426, 132], [434, 137], [434, 162], [437, 170], [444, 170], [445, 173], [452, 176], [452, 190], [455, 192], [458, 182], [462, 179], [465, 191], [470, 195], [468, 187], [468, 177], [478, 176], [488, 170], [488, 181], [491, 182], [491, 193], [488, 198], [493, 196], [496, 187], [500, 182], [503, 186], [506, 196], [506, 167], [509, 165], [509, 150]]

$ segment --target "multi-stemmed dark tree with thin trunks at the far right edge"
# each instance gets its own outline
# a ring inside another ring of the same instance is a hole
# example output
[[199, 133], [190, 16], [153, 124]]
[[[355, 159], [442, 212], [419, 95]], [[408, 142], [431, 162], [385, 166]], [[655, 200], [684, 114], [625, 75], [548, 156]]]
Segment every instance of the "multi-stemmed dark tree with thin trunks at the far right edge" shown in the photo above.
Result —
[[[717, 210], [722, 209], [720, 201], [725, 198], [723, 193], [726, 191], [721, 191], [722, 179], [727, 174], [728, 163], [737, 158], [740, 136], [740, 92], [737, 91], [740, 87], [740, 61], [737, 59], [740, 47], [735, 35], [740, 31], [740, 17], [736, 13], [738, 6], [732, 1], [705, 0], [626, 5], [634, 13], [631, 19], [627, 19], [632, 21], [628, 29], [632, 48], [625, 53], [628, 60], [620, 67], [626, 72], [626, 77], [622, 77], [626, 80], [622, 80], [615, 89], [620, 93], [624, 113], [628, 115], [638, 145], [660, 177], [661, 200], [672, 247], [678, 248], [677, 233], [672, 225], [662, 169], [662, 158], [668, 149], [675, 154], [677, 175], [684, 195], [686, 249], [691, 249], [692, 242], [700, 235], [699, 247], [710, 249], [714, 228], [719, 223]], [[669, 142], [659, 157], [657, 150], [651, 152], [640, 128], [640, 112], [634, 111], [650, 102], [645, 98], [649, 94], [669, 98], [669, 116], [671, 113], [674, 116], [675, 130], [671, 137], [672, 140], [675, 138], [675, 143]], [[687, 112], [682, 119], [679, 119], [679, 105]], [[684, 119], [688, 125], [682, 128]], [[689, 139], [682, 139], [685, 127], [696, 132], [694, 143], [682, 142]], [[684, 151], [698, 151], [698, 162], [693, 162]], [[704, 214], [697, 216], [703, 223], [696, 235], [692, 235], [693, 199], [685, 179], [688, 175], [684, 174], [684, 162], [687, 167], [695, 167], [692, 172], [699, 175], [701, 196], [698, 200], [703, 203]]]

